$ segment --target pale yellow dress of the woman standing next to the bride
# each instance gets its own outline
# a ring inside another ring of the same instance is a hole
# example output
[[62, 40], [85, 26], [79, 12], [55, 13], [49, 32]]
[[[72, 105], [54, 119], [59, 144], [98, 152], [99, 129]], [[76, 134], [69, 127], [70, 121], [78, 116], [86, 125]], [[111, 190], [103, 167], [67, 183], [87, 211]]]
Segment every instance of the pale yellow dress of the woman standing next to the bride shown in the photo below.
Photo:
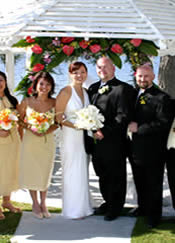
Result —
[[[28, 106], [27, 109], [31, 108]], [[53, 114], [54, 109], [49, 112]], [[47, 190], [52, 175], [54, 156], [55, 139], [53, 132], [39, 137], [26, 130], [20, 156], [20, 188]]]

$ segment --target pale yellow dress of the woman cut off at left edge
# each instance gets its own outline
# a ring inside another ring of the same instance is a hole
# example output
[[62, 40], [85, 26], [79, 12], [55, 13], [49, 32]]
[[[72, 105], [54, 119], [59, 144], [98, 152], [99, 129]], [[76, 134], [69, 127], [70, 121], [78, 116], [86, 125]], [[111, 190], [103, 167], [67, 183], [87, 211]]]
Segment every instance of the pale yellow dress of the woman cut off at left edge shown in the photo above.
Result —
[[[6, 96], [0, 99], [0, 110], [12, 108]], [[8, 137], [0, 137], [0, 195], [8, 196], [19, 189], [20, 137], [17, 127], [10, 130]]]

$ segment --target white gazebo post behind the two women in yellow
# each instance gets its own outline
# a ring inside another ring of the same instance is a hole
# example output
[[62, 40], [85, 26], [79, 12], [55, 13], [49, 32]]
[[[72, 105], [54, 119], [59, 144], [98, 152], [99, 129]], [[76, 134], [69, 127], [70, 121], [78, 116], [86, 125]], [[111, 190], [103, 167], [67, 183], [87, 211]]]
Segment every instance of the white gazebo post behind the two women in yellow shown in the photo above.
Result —
[[10, 50], [6, 51], [5, 69], [7, 74], [7, 82], [10, 91], [13, 93], [15, 84], [15, 58], [14, 53]]

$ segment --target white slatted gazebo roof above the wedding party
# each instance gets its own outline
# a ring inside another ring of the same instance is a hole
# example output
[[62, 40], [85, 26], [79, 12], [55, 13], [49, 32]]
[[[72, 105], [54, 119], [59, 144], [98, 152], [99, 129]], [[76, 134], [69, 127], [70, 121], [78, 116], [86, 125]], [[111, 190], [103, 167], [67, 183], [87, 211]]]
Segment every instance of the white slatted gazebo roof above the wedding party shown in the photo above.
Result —
[[174, 46], [175, 0], [27, 0], [32, 8], [24, 2], [0, 12], [1, 47], [27, 35], [141, 38]]

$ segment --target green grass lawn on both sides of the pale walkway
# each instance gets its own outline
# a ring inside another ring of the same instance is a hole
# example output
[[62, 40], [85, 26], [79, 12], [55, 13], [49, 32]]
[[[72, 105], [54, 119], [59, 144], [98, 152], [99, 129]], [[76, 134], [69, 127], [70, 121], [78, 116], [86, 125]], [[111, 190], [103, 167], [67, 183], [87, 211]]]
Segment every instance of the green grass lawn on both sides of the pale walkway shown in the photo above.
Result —
[[[0, 200], [1, 203], [1, 200]], [[23, 211], [31, 211], [31, 204], [13, 202]], [[51, 213], [60, 213], [61, 209], [48, 207]], [[123, 216], [131, 208], [125, 208]], [[0, 243], [9, 243], [19, 224], [22, 213], [5, 212], [5, 220], [0, 220]], [[161, 224], [155, 229], [148, 229], [144, 218], [139, 217], [132, 232], [131, 243], [175, 243], [175, 218], [163, 218]]]

